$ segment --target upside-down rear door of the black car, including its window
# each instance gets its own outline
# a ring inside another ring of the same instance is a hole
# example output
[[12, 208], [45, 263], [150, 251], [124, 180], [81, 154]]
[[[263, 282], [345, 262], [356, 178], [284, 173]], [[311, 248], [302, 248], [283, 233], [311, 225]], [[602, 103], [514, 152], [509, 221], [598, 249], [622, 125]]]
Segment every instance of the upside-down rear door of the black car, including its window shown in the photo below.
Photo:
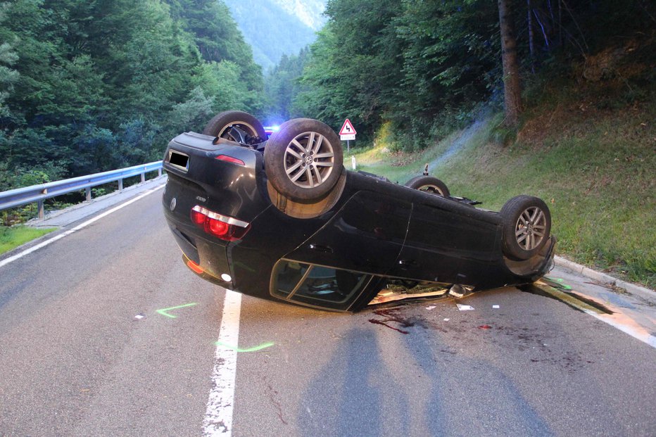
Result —
[[411, 203], [392, 196], [356, 192], [332, 220], [277, 262], [270, 292], [301, 305], [353, 310], [396, 264], [411, 210]]

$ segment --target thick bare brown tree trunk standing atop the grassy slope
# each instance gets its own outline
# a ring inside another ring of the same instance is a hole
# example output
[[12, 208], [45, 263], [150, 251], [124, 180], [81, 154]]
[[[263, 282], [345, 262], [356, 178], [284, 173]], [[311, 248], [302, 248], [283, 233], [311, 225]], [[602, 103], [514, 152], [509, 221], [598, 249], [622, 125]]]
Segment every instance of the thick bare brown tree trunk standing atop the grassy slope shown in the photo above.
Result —
[[522, 86], [519, 83], [517, 63], [517, 40], [512, 29], [512, 20], [507, 11], [508, 0], [498, 0], [499, 27], [501, 31], [501, 61], [503, 63], [503, 101], [505, 124], [517, 127], [522, 112]]

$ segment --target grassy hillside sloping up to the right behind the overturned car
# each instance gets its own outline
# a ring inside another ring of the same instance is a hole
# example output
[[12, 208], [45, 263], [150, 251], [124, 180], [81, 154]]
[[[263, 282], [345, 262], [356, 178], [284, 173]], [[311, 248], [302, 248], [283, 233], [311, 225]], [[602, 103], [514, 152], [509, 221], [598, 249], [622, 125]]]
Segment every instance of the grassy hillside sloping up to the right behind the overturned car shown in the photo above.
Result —
[[420, 153], [390, 137], [356, 156], [360, 169], [404, 183], [424, 163], [452, 194], [498, 210], [518, 194], [547, 201], [557, 253], [616, 277], [656, 285], [656, 99], [609, 84], [550, 83], [517, 137], [500, 145], [491, 115]]

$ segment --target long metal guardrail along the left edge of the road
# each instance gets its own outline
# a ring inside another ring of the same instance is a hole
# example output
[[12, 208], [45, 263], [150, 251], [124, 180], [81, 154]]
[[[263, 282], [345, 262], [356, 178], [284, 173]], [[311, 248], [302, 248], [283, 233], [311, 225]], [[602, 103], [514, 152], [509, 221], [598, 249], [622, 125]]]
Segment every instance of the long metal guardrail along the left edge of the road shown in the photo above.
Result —
[[87, 195], [87, 201], [91, 201], [91, 189], [93, 186], [118, 181], [118, 191], [122, 191], [123, 179], [126, 177], [141, 175], [141, 182], [145, 182], [146, 173], [154, 171], [157, 171], [159, 176], [162, 175], [162, 161], [2, 191], [0, 192], [0, 211], [37, 202], [39, 205], [39, 218], [42, 219], [44, 218], [43, 201], [46, 198], [61, 196], [62, 194], [83, 189]]

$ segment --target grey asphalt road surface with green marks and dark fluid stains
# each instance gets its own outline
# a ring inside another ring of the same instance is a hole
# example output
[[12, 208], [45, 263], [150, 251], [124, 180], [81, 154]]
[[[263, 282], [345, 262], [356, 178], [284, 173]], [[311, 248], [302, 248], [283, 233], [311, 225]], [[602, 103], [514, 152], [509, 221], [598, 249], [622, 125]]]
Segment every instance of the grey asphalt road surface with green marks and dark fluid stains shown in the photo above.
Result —
[[[225, 291], [184, 267], [160, 196], [0, 267], [1, 436], [202, 435]], [[237, 353], [232, 435], [656, 435], [655, 348], [517, 289], [460, 303], [244, 296], [239, 348], [269, 346]]]

